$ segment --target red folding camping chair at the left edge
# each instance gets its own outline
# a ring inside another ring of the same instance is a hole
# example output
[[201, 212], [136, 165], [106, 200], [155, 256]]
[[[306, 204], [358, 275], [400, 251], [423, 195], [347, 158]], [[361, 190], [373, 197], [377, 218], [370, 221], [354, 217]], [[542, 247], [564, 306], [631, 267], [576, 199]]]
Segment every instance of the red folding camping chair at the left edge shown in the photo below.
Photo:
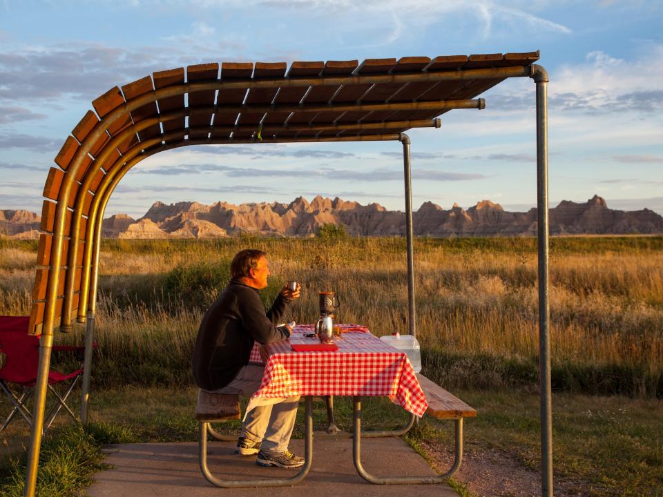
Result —
[[[26, 400], [30, 396], [32, 387], [37, 382], [39, 337], [28, 335], [29, 321], [30, 318], [23, 316], [0, 316], [0, 353], [3, 355], [3, 363], [0, 364], [0, 387], [14, 405], [14, 409], [7, 416], [0, 431], [9, 425], [14, 416], [16, 416], [16, 413], [20, 413], [28, 422], [28, 425], [32, 426], [32, 414], [30, 414], [28, 407], [26, 407]], [[84, 349], [85, 347], [59, 345], [54, 346], [52, 350], [81, 351]], [[82, 372], [83, 369], [77, 369], [68, 374], [60, 373], [59, 371], [55, 371], [55, 369], [51, 369], [48, 372], [48, 389], [52, 392], [57, 402], [44, 421], [44, 433], [46, 433], [46, 430], [48, 430], [62, 407], [66, 409], [72, 418], [77, 419], [73, 411], [66, 405], [66, 400], [74, 389]], [[67, 381], [71, 381], [69, 387], [64, 396], [60, 396], [52, 385]], [[21, 393], [17, 394], [12, 391], [8, 385], [10, 383], [17, 384], [22, 390]]]

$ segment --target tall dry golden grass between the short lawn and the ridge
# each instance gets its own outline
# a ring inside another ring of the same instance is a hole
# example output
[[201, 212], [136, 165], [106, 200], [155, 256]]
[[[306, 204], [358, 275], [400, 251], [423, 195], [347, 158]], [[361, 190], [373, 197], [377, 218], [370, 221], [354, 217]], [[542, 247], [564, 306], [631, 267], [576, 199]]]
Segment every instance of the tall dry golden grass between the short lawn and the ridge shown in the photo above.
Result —
[[[333, 289], [338, 320], [367, 324], [377, 335], [407, 333], [405, 242], [398, 238], [106, 241], [97, 315], [104, 378], [190, 382], [202, 313], [225, 283], [227, 262], [247, 246], [269, 253], [265, 302], [280, 282], [302, 282], [289, 318], [311, 322], [317, 292]], [[663, 237], [553, 238], [554, 385], [663, 395], [662, 249]], [[35, 246], [4, 242], [0, 253], [0, 313], [27, 313]], [[432, 376], [461, 386], [535, 382], [535, 240], [418, 239], [415, 266], [417, 335]]]

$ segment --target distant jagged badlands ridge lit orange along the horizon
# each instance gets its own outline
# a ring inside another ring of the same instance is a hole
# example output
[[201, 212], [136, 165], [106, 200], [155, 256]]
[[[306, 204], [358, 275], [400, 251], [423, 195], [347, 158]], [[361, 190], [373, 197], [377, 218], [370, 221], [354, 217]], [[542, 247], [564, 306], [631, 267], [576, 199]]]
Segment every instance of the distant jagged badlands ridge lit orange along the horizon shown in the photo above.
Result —
[[[504, 211], [490, 200], [467, 210], [454, 204], [449, 210], [424, 202], [413, 215], [418, 236], [532, 236], [537, 233], [537, 209]], [[403, 235], [401, 211], [387, 211], [380, 204], [361, 205], [338, 197], [318, 195], [311, 202], [298, 197], [289, 204], [260, 202], [211, 205], [198, 202], [164, 204], [155, 202], [139, 220], [125, 214], [108, 217], [102, 225], [104, 237], [119, 238], [218, 238], [235, 233], [265, 235], [314, 235], [320, 226], [343, 225], [350, 235]], [[0, 233], [10, 237], [39, 235], [39, 215], [29, 211], [0, 211]], [[584, 203], [564, 200], [550, 209], [553, 235], [619, 235], [663, 233], [663, 217], [644, 208], [617, 211], [594, 195]]]

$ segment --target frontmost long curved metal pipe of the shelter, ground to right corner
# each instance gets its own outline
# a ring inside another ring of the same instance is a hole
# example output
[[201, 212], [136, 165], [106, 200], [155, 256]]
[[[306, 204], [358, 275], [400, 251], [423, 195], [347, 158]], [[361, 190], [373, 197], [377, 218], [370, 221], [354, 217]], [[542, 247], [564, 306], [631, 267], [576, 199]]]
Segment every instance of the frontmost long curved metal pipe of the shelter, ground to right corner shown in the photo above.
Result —
[[[125, 102], [111, 110], [100, 119], [93, 129], [86, 135], [81, 146], [76, 150], [73, 158], [70, 160], [58, 194], [58, 202], [55, 208], [55, 222], [53, 227], [53, 239], [50, 253], [50, 271], [48, 273], [48, 282], [46, 285], [46, 305], [44, 312], [44, 322], [42, 323], [42, 334], [39, 345], [39, 369], [37, 381], [35, 384], [35, 400], [33, 410], [35, 411], [34, 423], [30, 435], [30, 445], [28, 449], [26, 481], [24, 487], [24, 496], [32, 497], [35, 495], [37, 487], [37, 470], [39, 467], [39, 451], [41, 449], [41, 427], [44, 425], [44, 410], [46, 407], [46, 392], [48, 385], [48, 371], [50, 369], [50, 355], [53, 344], [53, 328], [55, 323], [55, 312], [57, 305], [57, 289], [59, 280], [59, 270], [61, 267], [62, 249], [64, 242], [67, 204], [73, 188], [75, 177], [81, 168], [84, 159], [88, 157], [93, 144], [102, 138], [106, 129], [125, 115], [129, 115], [133, 110], [140, 108], [144, 104], [151, 103], [157, 99], [169, 96], [182, 95], [186, 92], [195, 92], [202, 90], [218, 90], [221, 88], [294, 88], [302, 86], [319, 85], [347, 85], [347, 84], [379, 84], [379, 83], [407, 83], [410, 81], [450, 81], [450, 80], [469, 80], [469, 79], [501, 79], [508, 77], [527, 77], [531, 75], [530, 66], [515, 66], [509, 68], [486, 68], [472, 70], [457, 70], [450, 72], [433, 73], [402, 73], [392, 75], [363, 75], [346, 77], [316, 77], [316, 78], [278, 78], [262, 80], [214, 80], [203, 83], [186, 83], [182, 85], [167, 86], [158, 90], [146, 92], [129, 102]], [[115, 87], [117, 88], [117, 87]], [[119, 91], [119, 89], [118, 89]], [[350, 138], [350, 139], [348, 139]], [[345, 141], [364, 141], [366, 137], [332, 137], [332, 139], [311, 139], [311, 140], [291, 140], [291, 142], [345, 142]], [[381, 137], [380, 139], [388, 139]], [[269, 141], [268, 141], [269, 142]], [[273, 140], [273, 142], [289, 142], [287, 139]], [[193, 144], [194, 142], [190, 142]], [[224, 143], [255, 143], [251, 140], [230, 140]], [[76, 216], [74, 216], [75, 218]], [[77, 244], [77, 239], [75, 245]], [[97, 238], [95, 242], [99, 242]], [[96, 244], [95, 244], [96, 245]], [[95, 264], [98, 263], [98, 246], [95, 249]], [[96, 286], [96, 285], [95, 285]], [[85, 289], [81, 288], [81, 293]], [[64, 313], [63, 313], [64, 315]], [[39, 429], [38, 429], [39, 427]]]

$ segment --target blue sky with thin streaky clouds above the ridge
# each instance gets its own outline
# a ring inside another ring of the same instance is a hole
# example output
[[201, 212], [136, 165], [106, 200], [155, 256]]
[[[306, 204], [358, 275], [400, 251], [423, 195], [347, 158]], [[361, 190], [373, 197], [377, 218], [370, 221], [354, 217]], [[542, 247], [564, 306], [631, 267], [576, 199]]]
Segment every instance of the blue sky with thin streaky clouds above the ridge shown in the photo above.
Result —
[[[325, 61], [541, 50], [550, 74], [550, 200], [663, 214], [661, 1], [0, 0], [0, 208], [41, 210], [61, 144], [115, 85], [222, 61]], [[412, 130], [415, 208], [535, 205], [535, 86]], [[403, 209], [394, 143], [189, 147], [124, 177], [106, 215], [157, 200], [336, 195]]]

